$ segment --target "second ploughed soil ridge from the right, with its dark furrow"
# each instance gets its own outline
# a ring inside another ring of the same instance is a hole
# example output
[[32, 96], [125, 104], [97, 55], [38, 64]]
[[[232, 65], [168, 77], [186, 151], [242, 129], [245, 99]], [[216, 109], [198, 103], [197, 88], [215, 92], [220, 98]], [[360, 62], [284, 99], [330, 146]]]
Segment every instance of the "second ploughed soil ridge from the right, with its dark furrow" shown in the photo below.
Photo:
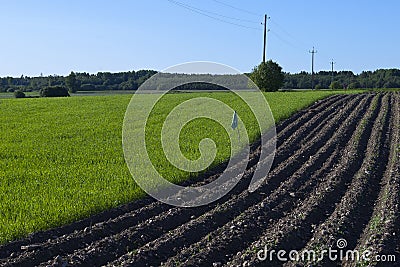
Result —
[[[351, 184], [336, 206], [332, 215], [313, 229], [313, 237], [305, 247], [305, 250], [313, 250], [319, 252], [323, 249], [335, 248], [336, 242], [340, 238], [347, 241], [347, 249], [354, 249], [358, 236], [366, 223], [371, 217], [372, 209], [375, 200], [378, 196], [377, 187], [380, 185], [381, 173], [384, 172], [388, 159], [388, 136], [385, 134], [388, 131], [390, 105], [389, 96], [386, 95], [383, 99], [383, 112], [374, 124], [374, 130], [371, 133], [367, 146], [366, 157], [362, 163], [360, 170], [351, 180]], [[303, 250], [304, 251], [304, 250]], [[296, 266], [299, 263], [287, 264], [288, 266]], [[302, 263], [304, 264], [304, 262]], [[307, 265], [310, 262], [307, 262]], [[315, 264], [315, 262], [312, 262]], [[318, 264], [327, 265], [334, 264], [325, 261]]]

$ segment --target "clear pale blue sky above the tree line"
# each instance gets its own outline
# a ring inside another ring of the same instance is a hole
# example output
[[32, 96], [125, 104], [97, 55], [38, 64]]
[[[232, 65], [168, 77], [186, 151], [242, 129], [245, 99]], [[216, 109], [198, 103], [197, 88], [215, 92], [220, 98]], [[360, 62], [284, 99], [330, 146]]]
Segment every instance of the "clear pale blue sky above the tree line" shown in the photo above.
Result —
[[399, 12], [399, 0], [0, 0], [0, 76], [189, 61], [249, 72], [262, 60], [265, 13], [267, 58], [286, 72], [310, 71], [313, 46], [316, 71], [331, 59], [355, 73], [400, 68]]

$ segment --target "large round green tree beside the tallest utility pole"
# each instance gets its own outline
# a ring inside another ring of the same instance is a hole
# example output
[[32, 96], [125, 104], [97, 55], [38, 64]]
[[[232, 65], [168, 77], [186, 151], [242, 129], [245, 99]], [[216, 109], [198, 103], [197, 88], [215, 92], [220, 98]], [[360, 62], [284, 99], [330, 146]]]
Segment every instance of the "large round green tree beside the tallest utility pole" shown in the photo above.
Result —
[[274, 92], [282, 88], [285, 75], [278, 63], [268, 60], [255, 67], [251, 79], [262, 91]]

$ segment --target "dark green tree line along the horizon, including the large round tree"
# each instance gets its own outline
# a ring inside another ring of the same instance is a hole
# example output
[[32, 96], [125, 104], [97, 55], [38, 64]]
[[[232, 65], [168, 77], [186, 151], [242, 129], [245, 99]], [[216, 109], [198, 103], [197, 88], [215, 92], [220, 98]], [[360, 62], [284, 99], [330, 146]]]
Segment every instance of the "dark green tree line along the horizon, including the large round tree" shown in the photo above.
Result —
[[[310, 89], [311, 73], [302, 71], [300, 73], [283, 73], [281, 67], [275, 62], [262, 63], [248, 73], [260, 89], [265, 91], [276, 91], [282, 89]], [[2, 77], [0, 78], [0, 92], [30, 92], [40, 91], [47, 87], [65, 87], [70, 92], [76, 91], [102, 91], [102, 90], [136, 90], [148, 78], [156, 74], [154, 70], [139, 70], [128, 72], [98, 72], [97, 74], [74, 73], [68, 76], [40, 76], [28, 77], [22, 75], [19, 78]], [[160, 76], [163, 77], [163, 76]], [[244, 80], [235, 80], [231, 75], [212, 75], [207, 76], [207, 83], [223, 83], [224, 85], [247, 87]], [[165, 78], [171, 79], [168, 74]], [[180, 77], [179, 79], [182, 79]], [[272, 80], [271, 80], [272, 79]], [[282, 82], [283, 79], [283, 82]], [[168, 79], [166, 79], [167, 81]], [[153, 81], [156, 82], [156, 81]], [[171, 81], [168, 81], [170, 83]], [[167, 83], [167, 82], [165, 82]], [[363, 71], [354, 74], [352, 71], [320, 71], [314, 75], [315, 89], [358, 89], [358, 88], [400, 88], [399, 69], [379, 69], [376, 71]], [[152, 88], [162, 90], [160, 85]], [[265, 87], [265, 88], [262, 88]], [[271, 88], [269, 88], [271, 87]], [[272, 88], [273, 87], [273, 88]], [[179, 89], [205, 89], [203, 84], [193, 86], [183, 86]]]

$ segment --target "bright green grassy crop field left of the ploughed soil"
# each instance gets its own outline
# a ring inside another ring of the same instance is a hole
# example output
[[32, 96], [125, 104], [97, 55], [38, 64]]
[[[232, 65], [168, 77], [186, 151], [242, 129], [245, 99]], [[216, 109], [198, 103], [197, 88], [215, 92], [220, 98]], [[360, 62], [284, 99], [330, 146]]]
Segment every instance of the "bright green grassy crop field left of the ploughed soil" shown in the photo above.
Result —
[[[331, 91], [266, 93], [277, 122]], [[251, 141], [253, 119], [229, 93], [170, 94], [153, 113], [149, 126], [161, 131], [165, 114], [188, 98], [210, 96], [238, 108]], [[122, 124], [129, 95], [53, 99], [0, 100], [0, 243], [89, 216], [144, 196], [125, 164]], [[146, 101], [146, 95], [143, 101]], [[138, 111], [140, 112], [140, 111]], [[202, 127], [199, 127], [201, 125]], [[201, 128], [193, 134], [195, 129]], [[197, 145], [212, 138], [219, 148], [215, 164], [229, 157], [228, 135], [212, 121], [195, 120], [180, 137], [183, 154], [198, 156]], [[213, 131], [210, 131], [213, 129]], [[210, 132], [211, 136], [210, 136]], [[159, 147], [157, 139], [148, 140]], [[189, 174], [166, 161], [160, 150], [151, 155], [171, 181]]]

